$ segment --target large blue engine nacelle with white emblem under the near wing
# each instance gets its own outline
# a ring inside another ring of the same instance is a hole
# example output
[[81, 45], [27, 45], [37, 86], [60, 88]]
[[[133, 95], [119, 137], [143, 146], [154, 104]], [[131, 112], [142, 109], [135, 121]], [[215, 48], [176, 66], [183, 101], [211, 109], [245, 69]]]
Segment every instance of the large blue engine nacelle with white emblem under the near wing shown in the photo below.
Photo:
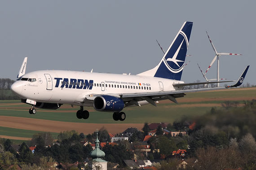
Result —
[[124, 101], [119, 97], [102, 95], [93, 100], [93, 107], [97, 111], [120, 112], [124, 109]]

